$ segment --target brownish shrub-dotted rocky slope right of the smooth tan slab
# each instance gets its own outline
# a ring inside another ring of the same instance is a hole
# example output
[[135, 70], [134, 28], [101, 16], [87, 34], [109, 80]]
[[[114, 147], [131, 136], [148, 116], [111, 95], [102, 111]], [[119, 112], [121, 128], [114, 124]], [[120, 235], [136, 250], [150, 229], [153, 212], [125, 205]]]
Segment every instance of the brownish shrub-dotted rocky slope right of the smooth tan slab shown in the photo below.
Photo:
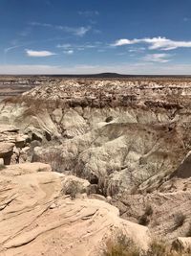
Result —
[[149, 227], [153, 236], [168, 242], [190, 236], [191, 179], [172, 178], [153, 191], [133, 191], [113, 198], [126, 220]]

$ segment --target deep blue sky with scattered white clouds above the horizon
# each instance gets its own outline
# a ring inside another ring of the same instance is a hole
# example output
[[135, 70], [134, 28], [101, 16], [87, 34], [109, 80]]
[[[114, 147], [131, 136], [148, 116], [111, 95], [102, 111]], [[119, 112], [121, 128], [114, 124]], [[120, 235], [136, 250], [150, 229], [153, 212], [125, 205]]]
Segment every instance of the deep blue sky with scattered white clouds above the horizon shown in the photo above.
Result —
[[0, 74], [191, 75], [191, 0], [0, 0]]

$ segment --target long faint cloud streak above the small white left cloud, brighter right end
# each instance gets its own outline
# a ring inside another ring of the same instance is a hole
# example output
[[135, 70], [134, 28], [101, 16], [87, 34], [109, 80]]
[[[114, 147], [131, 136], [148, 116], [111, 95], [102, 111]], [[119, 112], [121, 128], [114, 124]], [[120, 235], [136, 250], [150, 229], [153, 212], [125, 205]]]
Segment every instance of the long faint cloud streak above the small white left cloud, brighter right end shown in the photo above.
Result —
[[75, 28], [75, 27], [53, 25], [50, 23], [40, 23], [40, 22], [31, 22], [30, 25], [36, 26], [36, 27], [44, 27], [44, 28], [59, 30], [59, 31], [63, 31], [63, 32], [70, 33], [70, 34], [77, 35], [77, 36], [86, 35], [92, 29], [91, 26], [86, 26], [86, 27], [81, 26], [81, 27]]

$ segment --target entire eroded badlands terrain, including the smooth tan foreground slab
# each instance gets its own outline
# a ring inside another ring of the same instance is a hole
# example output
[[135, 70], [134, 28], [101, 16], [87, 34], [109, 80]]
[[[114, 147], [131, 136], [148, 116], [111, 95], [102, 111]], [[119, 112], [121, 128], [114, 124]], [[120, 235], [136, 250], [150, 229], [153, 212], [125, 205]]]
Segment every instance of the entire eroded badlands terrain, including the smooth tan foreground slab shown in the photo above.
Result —
[[[0, 255], [191, 244], [191, 79], [44, 80], [0, 103]], [[178, 243], [179, 242], [179, 243]]]

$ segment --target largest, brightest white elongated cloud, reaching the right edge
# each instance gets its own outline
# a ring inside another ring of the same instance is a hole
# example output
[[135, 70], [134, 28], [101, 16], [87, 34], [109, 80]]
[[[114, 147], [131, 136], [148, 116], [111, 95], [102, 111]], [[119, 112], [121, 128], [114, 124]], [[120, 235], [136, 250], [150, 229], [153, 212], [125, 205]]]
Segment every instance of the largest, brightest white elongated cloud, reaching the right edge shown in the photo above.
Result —
[[137, 43], [149, 44], [150, 50], [174, 50], [177, 48], [191, 48], [191, 41], [176, 41], [166, 37], [140, 38], [140, 39], [118, 39], [112, 46], [132, 45]]

